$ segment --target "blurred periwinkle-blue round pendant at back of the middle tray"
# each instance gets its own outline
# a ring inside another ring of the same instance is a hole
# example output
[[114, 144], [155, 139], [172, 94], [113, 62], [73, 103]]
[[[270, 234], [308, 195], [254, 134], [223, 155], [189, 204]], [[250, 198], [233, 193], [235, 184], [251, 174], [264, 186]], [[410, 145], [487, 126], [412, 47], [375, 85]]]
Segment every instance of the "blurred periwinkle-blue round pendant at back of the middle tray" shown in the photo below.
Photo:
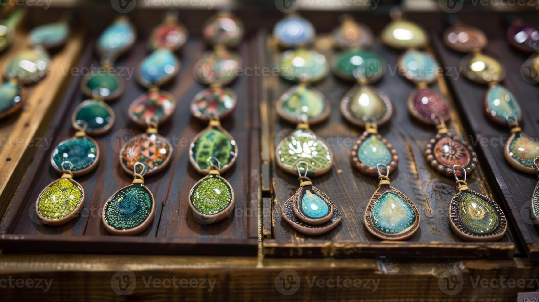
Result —
[[273, 37], [286, 48], [308, 46], [313, 43], [314, 36], [313, 24], [298, 15], [281, 19], [273, 28]]

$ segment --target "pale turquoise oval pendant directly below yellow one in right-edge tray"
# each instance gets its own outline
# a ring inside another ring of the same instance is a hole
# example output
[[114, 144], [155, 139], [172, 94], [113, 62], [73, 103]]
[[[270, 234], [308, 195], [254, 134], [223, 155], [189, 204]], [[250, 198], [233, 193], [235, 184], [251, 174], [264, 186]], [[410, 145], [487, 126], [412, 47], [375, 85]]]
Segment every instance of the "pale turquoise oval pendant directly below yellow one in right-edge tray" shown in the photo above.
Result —
[[522, 120], [519, 102], [506, 87], [501, 85], [489, 87], [483, 104], [487, 117], [495, 123], [509, 125]]

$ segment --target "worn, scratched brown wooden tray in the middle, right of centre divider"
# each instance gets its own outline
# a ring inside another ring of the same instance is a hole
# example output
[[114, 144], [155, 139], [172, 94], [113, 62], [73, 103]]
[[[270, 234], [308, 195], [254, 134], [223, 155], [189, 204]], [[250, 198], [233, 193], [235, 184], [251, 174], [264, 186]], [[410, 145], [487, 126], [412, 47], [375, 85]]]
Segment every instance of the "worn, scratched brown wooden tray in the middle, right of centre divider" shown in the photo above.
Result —
[[[369, 24], [376, 37], [379, 36], [383, 25], [389, 22], [379, 17], [377, 19], [372, 16], [363, 18], [363, 15], [355, 17], [356, 20]], [[265, 45], [261, 47], [263, 46]], [[272, 38], [267, 40], [267, 48], [269, 51], [265, 58], [266, 64], [274, 66], [282, 50], [277, 49]], [[323, 53], [329, 60], [335, 55], [331, 38], [327, 35], [317, 38], [314, 49]], [[343, 215], [342, 222], [333, 231], [319, 237], [303, 236], [295, 232], [282, 219], [281, 206], [298, 188], [297, 176], [284, 173], [272, 163], [272, 202], [269, 204], [265, 202], [263, 210], [264, 214], [268, 212], [272, 214], [263, 216], [263, 219], [270, 219], [269, 222], [264, 222], [265, 235], [269, 237], [264, 240], [264, 254], [279, 257], [513, 257], [515, 239], [511, 226], [507, 235], [498, 242], [463, 242], [453, 234], [448, 221], [448, 208], [456, 192], [455, 180], [453, 177], [437, 174], [424, 159], [425, 145], [436, 135], [436, 130], [416, 122], [407, 112], [406, 100], [415, 87], [404, 77], [395, 73], [397, 59], [402, 52], [382, 45], [378, 38], [371, 50], [378, 53], [385, 60], [386, 66], [389, 66], [383, 78], [374, 86], [388, 95], [394, 109], [391, 121], [378, 129], [379, 133], [396, 148], [400, 157], [398, 170], [390, 175], [391, 185], [402, 191], [416, 204], [421, 216], [420, 229], [410, 239], [402, 242], [379, 241], [365, 229], [363, 225], [365, 207], [372, 193], [377, 189], [378, 182], [376, 177], [363, 175], [350, 164], [352, 145], [350, 143], [347, 145], [347, 142], [360, 136], [364, 129], [351, 126], [346, 122], [339, 106], [343, 95], [353, 86], [353, 83], [347, 83], [329, 74], [326, 79], [313, 86], [326, 95], [331, 105], [331, 113], [326, 122], [313, 125], [311, 128], [324, 140], [335, 140], [336, 143], [330, 146], [333, 150], [334, 166], [326, 175], [312, 177], [312, 180], [314, 185], [328, 194], [336, 207], [340, 209]], [[268, 108], [267, 112], [262, 111], [262, 115], [269, 116], [269, 153], [273, 156], [273, 148], [278, 140], [289, 133], [286, 129], [295, 127], [279, 119], [273, 105], [292, 85], [278, 77], [273, 77], [266, 79], [265, 86], [267, 86], [267, 91], [264, 99], [267, 101], [267, 106], [262, 105], [261, 108]], [[455, 103], [451, 95], [447, 93], [444, 78], [440, 77], [438, 83], [430, 87], [443, 93], [453, 109], [448, 128], [461, 129], [467, 133], [467, 129], [462, 127], [459, 114], [454, 110]], [[278, 138], [275, 138], [276, 135]], [[339, 138], [342, 145], [338, 145]], [[265, 138], [262, 137], [262, 141], [264, 140]], [[468, 186], [474, 191], [493, 198], [503, 208], [500, 196], [492, 187], [494, 183], [490, 182], [487, 177], [484, 166], [486, 163], [480, 163], [475, 172], [468, 176]], [[504, 212], [507, 213], [507, 210], [504, 209]]]

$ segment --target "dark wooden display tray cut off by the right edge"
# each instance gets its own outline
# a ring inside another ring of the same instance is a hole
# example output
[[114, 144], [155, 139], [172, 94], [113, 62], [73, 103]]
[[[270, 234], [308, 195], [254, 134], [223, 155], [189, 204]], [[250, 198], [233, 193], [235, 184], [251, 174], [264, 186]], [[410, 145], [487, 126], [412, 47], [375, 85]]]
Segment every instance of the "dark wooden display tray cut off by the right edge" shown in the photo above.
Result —
[[[537, 14], [521, 14], [518, 17], [526, 22], [539, 26]], [[485, 53], [500, 59], [506, 67], [507, 77], [502, 81], [519, 101], [522, 107], [523, 132], [532, 138], [539, 138], [539, 84], [530, 84], [521, 77], [520, 68], [530, 54], [524, 54], [514, 49], [508, 42], [506, 32], [508, 28], [505, 16], [492, 13], [479, 13], [473, 15], [460, 14], [462, 22], [485, 31], [488, 45]], [[433, 42], [439, 59], [445, 66], [459, 66], [464, 54], [454, 52], [441, 41], [443, 31], [433, 30]], [[508, 218], [516, 225], [524, 248], [530, 259], [539, 259], [539, 228], [534, 226], [530, 217], [531, 195], [537, 184], [535, 175], [521, 173], [515, 170], [505, 160], [503, 145], [510, 136], [509, 129], [494, 125], [487, 120], [483, 113], [483, 97], [487, 87], [469, 81], [464, 75], [457, 79], [448, 79], [450, 87], [457, 97], [463, 118], [473, 130], [473, 140], [476, 142], [475, 150], [482, 154], [480, 161], [487, 161], [487, 173], [493, 175], [498, 194], [506, 204]]]

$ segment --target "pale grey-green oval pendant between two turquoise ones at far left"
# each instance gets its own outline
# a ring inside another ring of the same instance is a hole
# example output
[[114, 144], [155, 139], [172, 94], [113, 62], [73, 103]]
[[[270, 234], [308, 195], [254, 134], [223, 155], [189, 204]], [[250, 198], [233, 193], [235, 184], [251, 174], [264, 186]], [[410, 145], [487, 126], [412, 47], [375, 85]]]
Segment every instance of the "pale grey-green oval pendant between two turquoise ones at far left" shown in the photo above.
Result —
[[5, 67], [7, 79], [18, 78], [23, 84], [38, 83], [49, 72], [49, 53], [43, 47], [34, 47], [17, 53]]

